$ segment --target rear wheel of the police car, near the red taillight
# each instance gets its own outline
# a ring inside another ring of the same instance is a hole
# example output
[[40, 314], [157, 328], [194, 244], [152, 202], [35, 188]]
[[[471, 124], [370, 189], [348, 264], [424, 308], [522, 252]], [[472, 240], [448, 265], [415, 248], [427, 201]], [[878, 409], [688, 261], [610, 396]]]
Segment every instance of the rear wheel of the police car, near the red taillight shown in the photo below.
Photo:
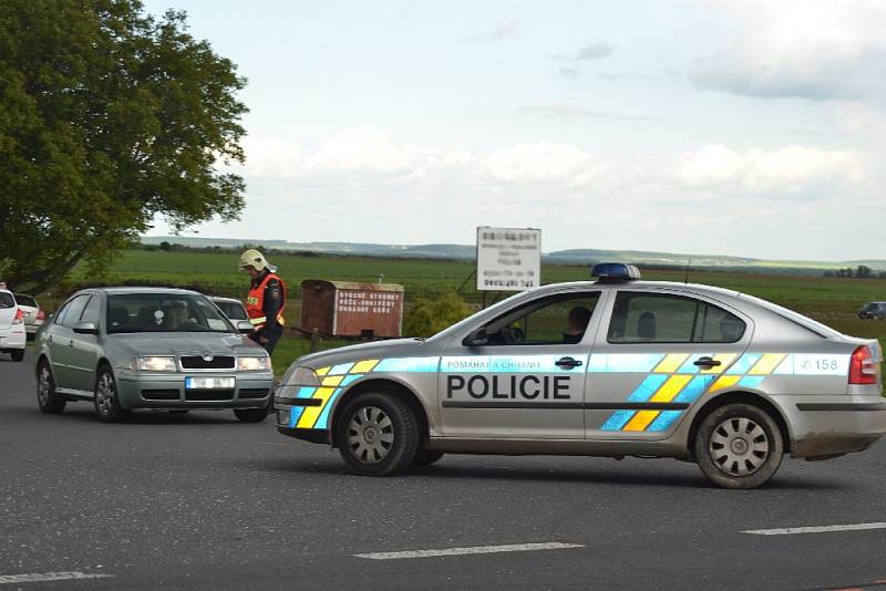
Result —
[[784, 442], [775, 421], [750, 404], [727, 404], [699, 424], [696, 462], [708, 479], [723, 488], [756, 488], [782, 463]]

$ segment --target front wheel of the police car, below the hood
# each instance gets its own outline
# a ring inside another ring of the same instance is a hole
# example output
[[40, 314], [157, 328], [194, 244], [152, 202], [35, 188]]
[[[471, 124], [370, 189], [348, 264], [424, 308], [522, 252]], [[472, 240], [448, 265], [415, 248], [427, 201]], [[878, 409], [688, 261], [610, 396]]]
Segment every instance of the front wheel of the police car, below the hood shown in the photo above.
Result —
[[419, 422], [400, 398], [363, 394], [341, 413], [336, 424], [336, 443], [342, 459], [358, 474], [404, 473], [419, 453]]

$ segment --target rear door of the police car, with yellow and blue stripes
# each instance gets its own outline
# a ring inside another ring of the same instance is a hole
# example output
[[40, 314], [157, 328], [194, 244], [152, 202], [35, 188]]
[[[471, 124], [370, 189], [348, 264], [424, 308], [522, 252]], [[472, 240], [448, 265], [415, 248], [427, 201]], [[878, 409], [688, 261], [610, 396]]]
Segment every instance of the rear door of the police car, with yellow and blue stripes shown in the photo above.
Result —
[[667, 437], [702, 394], [725, 383], [714, 385], [748, 349], [753, 323], [693, 293], [614, 292], [588, 363], [587, 437]]

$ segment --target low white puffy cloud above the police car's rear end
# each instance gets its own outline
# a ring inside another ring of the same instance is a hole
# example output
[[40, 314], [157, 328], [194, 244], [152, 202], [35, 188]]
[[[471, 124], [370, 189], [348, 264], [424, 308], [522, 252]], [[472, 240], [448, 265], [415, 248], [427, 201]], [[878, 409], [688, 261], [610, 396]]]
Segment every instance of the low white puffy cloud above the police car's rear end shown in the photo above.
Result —
[[686, 158], [679, 176], [690, 187], [723, 193], [812, 195], [834, 185], [857, 184], [863, 169], [861, 156], [851, 152], [785, 146], [738, 153], [712, 144]]

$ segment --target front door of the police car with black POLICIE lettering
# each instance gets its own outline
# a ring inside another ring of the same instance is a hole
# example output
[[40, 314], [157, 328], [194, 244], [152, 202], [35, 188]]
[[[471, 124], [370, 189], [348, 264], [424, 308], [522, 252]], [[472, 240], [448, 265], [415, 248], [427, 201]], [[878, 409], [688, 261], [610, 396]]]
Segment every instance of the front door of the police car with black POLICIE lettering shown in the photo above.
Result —
[[[599, 301], [599, 290], [524, 301], [473, 328], [485, 330], [485, 344], [451, 343], [437, 388], [444, 435], [583, 438], [585, 367]], [[575, 311], [579, 326], [569, 330]]]

